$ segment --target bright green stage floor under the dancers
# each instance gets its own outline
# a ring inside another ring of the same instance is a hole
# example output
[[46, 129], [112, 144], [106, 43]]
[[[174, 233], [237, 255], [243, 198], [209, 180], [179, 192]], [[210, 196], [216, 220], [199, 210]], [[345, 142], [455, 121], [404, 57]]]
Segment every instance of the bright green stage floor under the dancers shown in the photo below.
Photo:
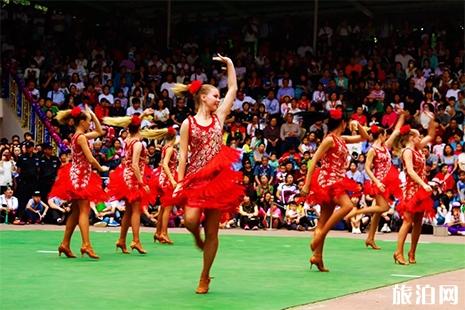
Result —
[[[420, 244], [416, 265], [395, 265], [394, 242], [373, 251], [363, 241], [329, 238], [329, 273], [309, 269], [309, 239], [221, 236], [208, 295], [196, 295], [202, 256], [188, 234], [149, 254], [115, 253], [117, 234], [92, 233], [101, 256], [58, 257], [60, 231], [0, 232], [1, 309], [283, 309], [465, 268], [465, 245]], [[128, 242], [129, 244], [129, 242]], [[73, 237], [78, 254], [80, 235]]]

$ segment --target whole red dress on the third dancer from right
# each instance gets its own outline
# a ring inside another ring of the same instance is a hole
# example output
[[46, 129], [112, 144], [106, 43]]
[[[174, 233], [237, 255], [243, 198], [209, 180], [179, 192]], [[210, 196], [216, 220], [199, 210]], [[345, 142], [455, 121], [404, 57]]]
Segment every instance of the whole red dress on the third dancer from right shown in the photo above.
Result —
[[358, 192], [361, 186], [346, 177], [347, 159], [349, 150], [342, 138], [331, 134], [334, 146], [330, 148], [321, 159], [321, 167], [312, 175], [311, 188], [307, 202], [319, 205], [328, 205], [334, 199], [347, 192]]

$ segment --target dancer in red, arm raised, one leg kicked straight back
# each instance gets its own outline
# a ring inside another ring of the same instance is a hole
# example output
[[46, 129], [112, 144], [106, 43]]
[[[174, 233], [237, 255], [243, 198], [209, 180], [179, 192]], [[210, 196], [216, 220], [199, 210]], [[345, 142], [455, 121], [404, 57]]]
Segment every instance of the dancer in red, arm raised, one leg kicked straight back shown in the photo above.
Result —
[[[399, 179], [399, 171], [392, 165], [390, 150], [396, 138], [399, 136], [400, 128], [404, 124], [405, 114], [402, 113], [396, 123], [394, 131], [387, 138], [386, 130], [376, 125], [370, 127], [371, 136], [375, 140], [367, 154], [365, 171], [371, 182], [365, 184], [365, 193], [374, 197], [376, 205], [363, 209], [354, 208], [345, 219], [350, 219], [358, 214], [373, 213], [365, 245], [373, 250], [381, 248], [375, 243], [375, 234], [378, 229], [381, 214], [389, 210], [392, 196], [402, 198], [402, 190]], [[371, 165], [373, 164], [373, 170]]]

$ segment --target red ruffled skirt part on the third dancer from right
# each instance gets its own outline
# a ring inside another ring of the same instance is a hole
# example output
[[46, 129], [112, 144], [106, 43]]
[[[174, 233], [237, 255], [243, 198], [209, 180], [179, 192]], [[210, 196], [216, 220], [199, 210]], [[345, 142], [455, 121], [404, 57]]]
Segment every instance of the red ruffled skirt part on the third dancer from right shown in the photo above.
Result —
[[318, 182], [319, 174], [320, 169], [316, 169], [312, 175], [311, 188], [306, 199], [310, 204], [328, 205], [344, 194], [361, 191], [360, 184], [346, 177], [336, 181], [332, 185], [322, 187]]

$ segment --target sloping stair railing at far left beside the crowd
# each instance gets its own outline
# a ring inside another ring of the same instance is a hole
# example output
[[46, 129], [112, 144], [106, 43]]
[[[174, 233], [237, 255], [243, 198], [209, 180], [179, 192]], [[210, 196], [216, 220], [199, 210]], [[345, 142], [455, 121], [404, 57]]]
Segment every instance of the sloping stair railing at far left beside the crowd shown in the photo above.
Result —
[[37, 143], [50, 143], [55, 151], [68, 149], [54, 131], [37, 101], [25, 89], [24, 81], [17, 76], [10, 77], [9, 95], [10, 106], [16, 112], [21, 127], [31, 132]]

